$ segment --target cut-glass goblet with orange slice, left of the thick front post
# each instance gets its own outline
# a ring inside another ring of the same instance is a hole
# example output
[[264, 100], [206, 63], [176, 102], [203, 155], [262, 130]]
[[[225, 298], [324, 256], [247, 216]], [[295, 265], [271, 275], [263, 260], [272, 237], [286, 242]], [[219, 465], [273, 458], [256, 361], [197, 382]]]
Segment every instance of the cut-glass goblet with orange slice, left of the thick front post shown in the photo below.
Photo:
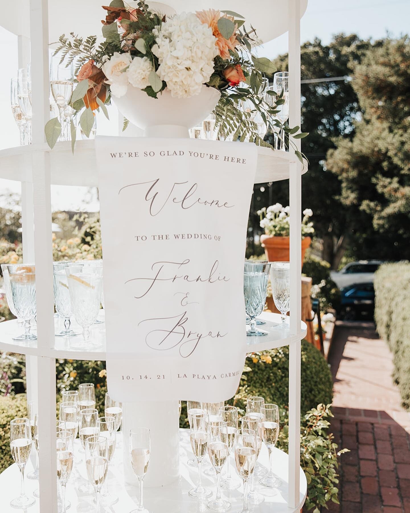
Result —
[[31, 324], [37, 312], [35, 298], [35, 267], [33, 265], [8, 265], [12, 302], [17, 317], [24, 321], [24, 333], [13, 340], [31, 341], [37, 337], [30, 333]]

